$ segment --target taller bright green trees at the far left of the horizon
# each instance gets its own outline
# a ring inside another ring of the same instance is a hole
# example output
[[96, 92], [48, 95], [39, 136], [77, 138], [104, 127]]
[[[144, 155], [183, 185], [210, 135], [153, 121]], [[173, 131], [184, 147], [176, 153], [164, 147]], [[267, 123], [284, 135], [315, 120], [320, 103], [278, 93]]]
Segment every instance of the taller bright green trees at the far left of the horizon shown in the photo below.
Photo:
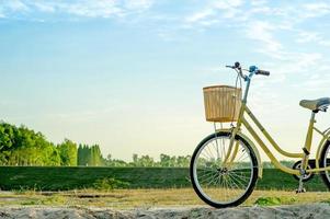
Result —
[[[84, 148], [83, 155], [89, 157], [88, 164], [100, 165], [102, 154], [99, 146]], [[94, 153], [94, 151], [98, 151]], [[75, 166], [81, 160], [78, 154], [77, 143], [65, 139], [61, 143], [53, 143], [42, 132], [36, 132], [25, 126], [0, 122], [0, 165], [64, 165]]]

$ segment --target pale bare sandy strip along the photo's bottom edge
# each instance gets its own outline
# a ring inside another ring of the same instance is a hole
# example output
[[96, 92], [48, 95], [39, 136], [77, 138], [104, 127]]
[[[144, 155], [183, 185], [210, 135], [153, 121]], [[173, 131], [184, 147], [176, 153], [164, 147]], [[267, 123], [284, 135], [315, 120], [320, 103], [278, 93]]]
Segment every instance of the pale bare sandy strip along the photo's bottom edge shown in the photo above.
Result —
[[1, 207], [0, 218], [45, 218], [45, 219], [76, 219], [76, 218], [140, 218], [140, 219], [189, 219], [189, 218], [330, 218], [329, 204], [291, 205], [277, 207], [237, 207], [214, 209], [208, 207], [150, 208], [113, 210], [110, 208], [66, 208], [66, 207]]

